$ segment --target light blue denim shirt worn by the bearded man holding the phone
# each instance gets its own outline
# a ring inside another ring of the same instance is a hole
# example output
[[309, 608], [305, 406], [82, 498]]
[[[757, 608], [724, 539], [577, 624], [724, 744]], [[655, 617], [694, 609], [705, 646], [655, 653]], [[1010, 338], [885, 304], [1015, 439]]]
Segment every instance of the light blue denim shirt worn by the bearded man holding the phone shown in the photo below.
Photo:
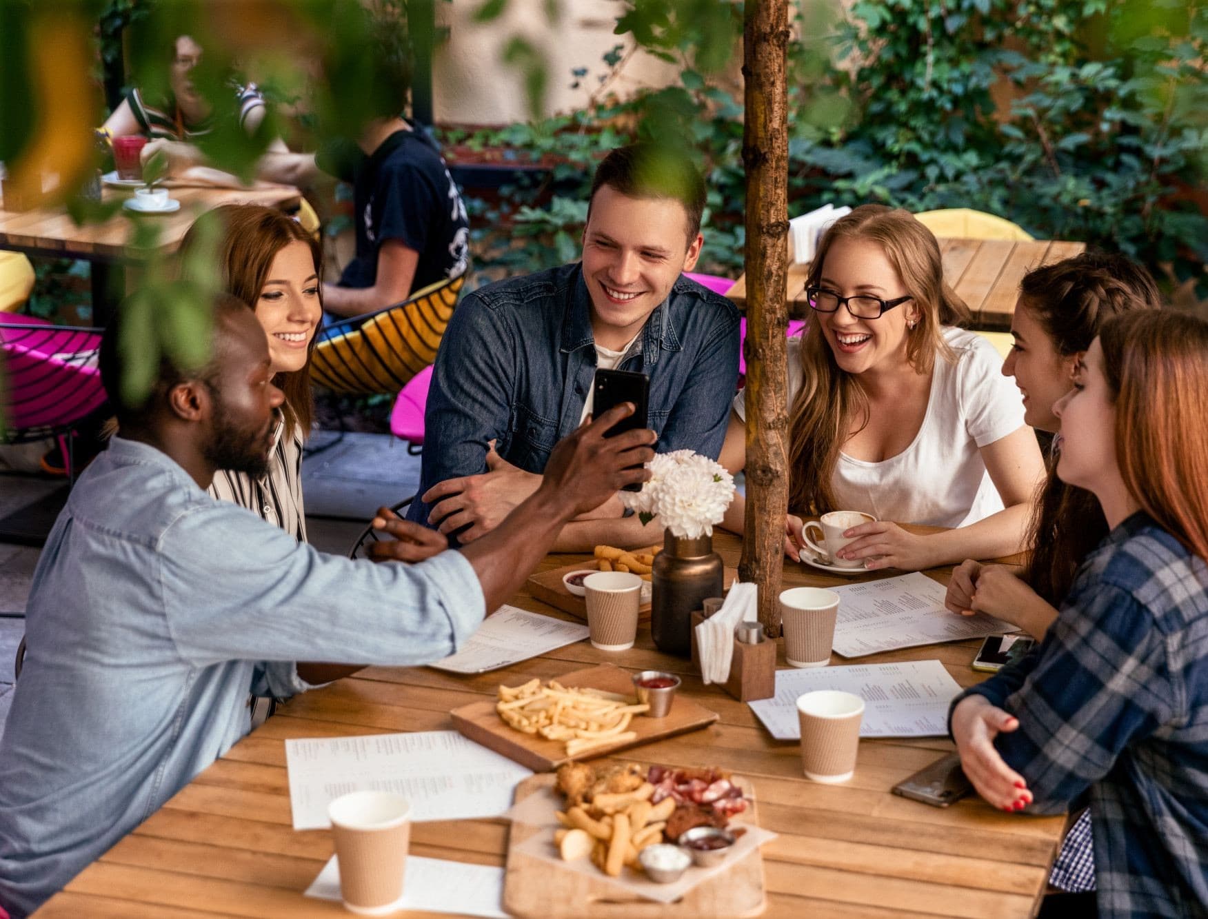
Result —
[[459, 552], [325, 556], [115, 438], [46, 542], [0, 741], [0, 905], [24, 915], [249, 729], [295, 661], [423, 664], [482, 622]]

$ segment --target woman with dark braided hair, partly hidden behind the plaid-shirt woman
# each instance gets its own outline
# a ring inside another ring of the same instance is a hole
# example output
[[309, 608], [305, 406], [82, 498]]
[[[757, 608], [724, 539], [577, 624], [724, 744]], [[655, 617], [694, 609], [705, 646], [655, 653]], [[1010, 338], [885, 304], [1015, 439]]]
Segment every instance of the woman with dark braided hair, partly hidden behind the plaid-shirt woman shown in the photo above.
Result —
[[[1109, 319], [1134, 309], [1158, 309], [1157, 285], [1143, 267], [1122, 255], [1084, 252], [1028, 272], [1011, 319], [1015, 345], [1003, 362], [1023, 394], [1023, 418], [1038, 431], [1056, 434], [1053, 405], [1069, 391], [1074, 368]], [[1049, 458], [1049, 478], [1032, 511], [1030, 557], [1022, 576], [1006, 565], [966, 559], [952, 574], [945, 600], [953, 612], [987, 612], [1038, 640], [1057, 618], [1082, 560], [1108, 535], [1108, 523], [1090, 492], [1062, 482], [1058, 452]], [[1091, 814], [1070, 826], [1049, 883], [1092, 900], [1094, 854]], [[1075, 908], [1055, 897], [1047, 909]], [[1093, 911], [1092, 911], [1093, 912]]]

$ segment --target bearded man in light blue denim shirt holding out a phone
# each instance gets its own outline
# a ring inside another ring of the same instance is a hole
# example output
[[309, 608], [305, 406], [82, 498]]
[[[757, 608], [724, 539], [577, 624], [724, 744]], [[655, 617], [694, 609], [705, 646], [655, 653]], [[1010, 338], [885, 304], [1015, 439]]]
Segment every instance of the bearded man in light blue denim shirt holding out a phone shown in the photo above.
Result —
[[0, 737], [0, 906], [17, 919], [246, 734], [249, 692], [294, 694], [339, 669], [296, 661], [455, 653], [565, 522], [650, 477], [652, 431], [605, 437], [627, 403], [557, 444], [540, 488], [460, 552], [385, 508], [383, 564], [316, 552], [205, 493], [219, 469], [265, 475], [284, 399], [252, 312], [228, 293], [213, 309], [207, 363], [161, 360], [135, 405], [118, 397], [135, 320], [120, 309], [105, 330], [121, 432], [47, 537]]

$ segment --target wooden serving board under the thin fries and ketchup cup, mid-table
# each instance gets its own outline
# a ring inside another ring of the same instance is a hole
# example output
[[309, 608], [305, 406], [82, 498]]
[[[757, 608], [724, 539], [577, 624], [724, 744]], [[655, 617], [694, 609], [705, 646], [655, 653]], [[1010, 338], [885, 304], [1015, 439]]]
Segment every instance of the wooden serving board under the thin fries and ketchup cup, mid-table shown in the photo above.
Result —
[[[557, 677], [563, 686], [583, 686], [605, 692], [617, 692], [625, 696], [633, 696], [633, 677], [615, 664], [599, 664], [586, 670], [575, 670]], [[509, 727], [495, 711], [496, 699], [483, 699], [471, 702], [449, 712], [453, 719], [453, 727], [465, 734], [475, 743], [503, 754], [509, 760], [527, 766], [534, 772], [551, 772], [563, 763], [573, 760], [591, 760], [597, 756], [614, 754], [617, 750], [627, 750], [631, 746], [640, 746], [654, 740], [685, 734], [689, 731], [698, 731], [708, 727], [718, 720], [715, 711], [709, 711], [699, 703], [693, 702], [683, 693], [675, 693], [675, 702], [667, 717], [647, 719], [637, 715], [629, 722], [627, 731], [638, 734], [633, 740], [622, 740], [616, 744], [606, 744], [588, 750], [579, 756], [567, 756], [567, 744], [562, 740], [547, 740], [539, 734], [525, 734]]]

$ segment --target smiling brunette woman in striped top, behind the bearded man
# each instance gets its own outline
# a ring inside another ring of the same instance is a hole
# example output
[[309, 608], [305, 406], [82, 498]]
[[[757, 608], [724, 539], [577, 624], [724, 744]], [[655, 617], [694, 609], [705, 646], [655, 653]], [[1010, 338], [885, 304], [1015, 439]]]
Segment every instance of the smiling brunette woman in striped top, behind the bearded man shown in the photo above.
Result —
[[[216, 261], [222, 287], [256, 314], [268, 336], [273, 383], [285, 394], [274, 431], [268, 475], [254, 479], [222, 470], [210, 494], [233, 501], [306, 540], [302, 501], [302, 441], [310, 431], [310, 353], [323, 316], [323, 255], [292, 217], [257, 204], [227, 204], [207, 215], [221, 227]], [[197, 225], [181, 243], [185, 271], [199, 254]]]

